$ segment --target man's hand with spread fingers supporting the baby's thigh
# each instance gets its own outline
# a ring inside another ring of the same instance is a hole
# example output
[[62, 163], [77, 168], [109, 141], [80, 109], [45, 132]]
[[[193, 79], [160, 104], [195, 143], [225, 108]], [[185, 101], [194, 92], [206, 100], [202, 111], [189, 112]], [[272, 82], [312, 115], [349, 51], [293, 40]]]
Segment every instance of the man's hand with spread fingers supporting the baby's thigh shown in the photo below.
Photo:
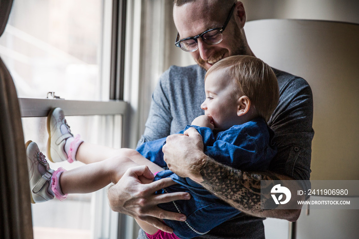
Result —
[[158, 218], [185, 221], [186, 216], [165, 211], [157, 205], [175, 200], [188, 200], [190, 194], [175, 192], [155, 195], [155, 191], [171, 186], [175, 182], [171, 178], [164, 178], [149, 184], [142, 184], [144, 181], [152, 180], [153, 174], [147, 166], [129, 168], [121, 180], [108, 189], [110, 207], [113, 211], [127, 214], [162, 231], [172, 233], [173, 230]]

